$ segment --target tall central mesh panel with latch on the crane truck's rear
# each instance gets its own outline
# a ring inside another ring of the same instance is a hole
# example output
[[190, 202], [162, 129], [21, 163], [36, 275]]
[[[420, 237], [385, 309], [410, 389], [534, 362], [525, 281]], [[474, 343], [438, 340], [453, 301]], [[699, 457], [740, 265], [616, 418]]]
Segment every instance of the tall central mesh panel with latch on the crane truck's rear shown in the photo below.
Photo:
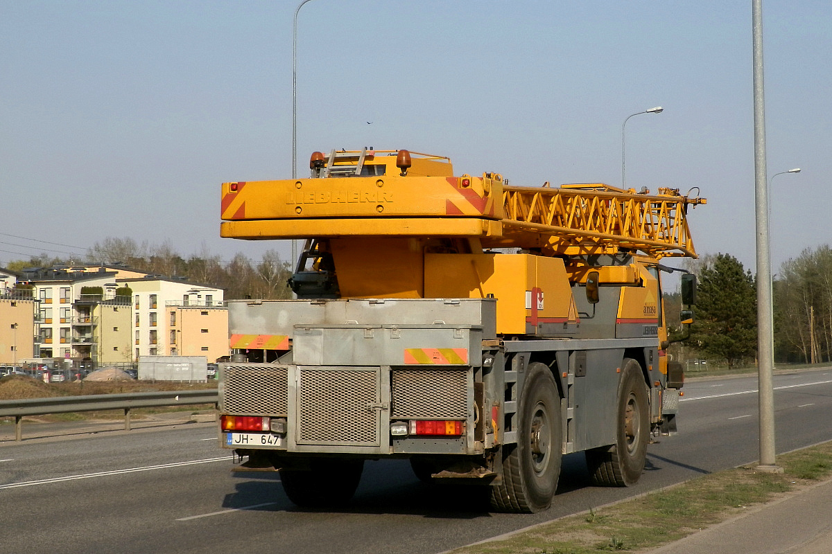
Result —
[[299, 438], [303, 443], [379, 443], [378, 370], [300, 370]]

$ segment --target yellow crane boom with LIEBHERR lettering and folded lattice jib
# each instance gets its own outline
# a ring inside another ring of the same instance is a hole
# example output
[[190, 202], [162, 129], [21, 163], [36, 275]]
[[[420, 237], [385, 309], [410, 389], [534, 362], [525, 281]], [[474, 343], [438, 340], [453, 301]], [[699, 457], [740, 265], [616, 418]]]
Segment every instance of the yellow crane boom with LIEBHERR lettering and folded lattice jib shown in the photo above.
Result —
[[696, 257], [686, 215], [706, 203], [678, 189], [518, 187], [499, 174], [455, 177], [448, 158], [407, 150], [315, 153], [310, 169], [309, 179], [223, 184], [221, 236], [469, 238], [483, 248], [549, 254], [623, 248]]

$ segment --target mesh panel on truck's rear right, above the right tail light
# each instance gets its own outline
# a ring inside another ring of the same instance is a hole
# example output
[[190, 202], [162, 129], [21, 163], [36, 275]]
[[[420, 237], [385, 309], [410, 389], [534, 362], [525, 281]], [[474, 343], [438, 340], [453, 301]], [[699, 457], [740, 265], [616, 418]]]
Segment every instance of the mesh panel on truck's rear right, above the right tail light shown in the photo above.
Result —
[[394, 370], [394, 418], [458, 418], [468, 414], [467, 370]]

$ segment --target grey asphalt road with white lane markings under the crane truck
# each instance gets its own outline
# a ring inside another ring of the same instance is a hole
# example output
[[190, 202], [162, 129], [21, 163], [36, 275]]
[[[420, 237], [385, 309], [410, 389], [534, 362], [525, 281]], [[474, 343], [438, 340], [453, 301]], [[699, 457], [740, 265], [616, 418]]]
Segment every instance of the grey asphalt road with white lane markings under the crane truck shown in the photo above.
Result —
[[[564, 460], [552, 508], [489, 513], [476, 490], [367, 463], [349, 509], [305, 512], [276, 473], [230, 473], [213, 424], [0, 443], [0, 553], [443, 552], [759, 457], [756, 380], [689, 381], [679, 434], [656, 439], [633, 488]], [[777, 450], [832, 440], [832, 370], [775, 376]]]

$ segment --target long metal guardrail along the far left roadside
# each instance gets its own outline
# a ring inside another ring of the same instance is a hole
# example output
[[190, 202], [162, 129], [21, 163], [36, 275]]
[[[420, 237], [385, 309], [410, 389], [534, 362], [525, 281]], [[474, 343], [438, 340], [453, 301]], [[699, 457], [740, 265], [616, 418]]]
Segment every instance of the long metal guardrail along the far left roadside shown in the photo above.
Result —
[[0, 401], [0, 417], [14, 417], [14, 439], [23, 439], [24, 415], [66, 414], [92, 412], [103, 409], [124, 410], [124, 430], [130, 430], [130, 410], [159, 406], [188, 406], [217, 404], [216, 390], [170, 390], [166, 392], [138, 392], [125, 395], [62, 396], [60, 398], [31, 398]]

